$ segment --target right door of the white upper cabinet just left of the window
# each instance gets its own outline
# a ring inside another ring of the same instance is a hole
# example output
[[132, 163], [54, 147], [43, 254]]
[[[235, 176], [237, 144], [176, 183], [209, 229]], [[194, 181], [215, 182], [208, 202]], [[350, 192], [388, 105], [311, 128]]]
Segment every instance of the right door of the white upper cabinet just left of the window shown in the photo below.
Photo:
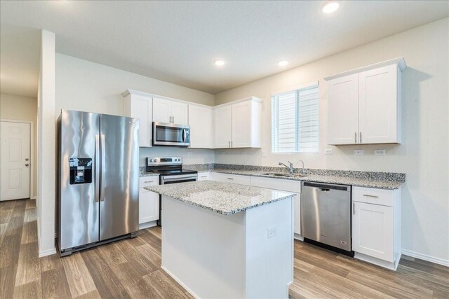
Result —
[[251, 146], [251, 103], [250, 101], [232, 105], [232, 147]]

